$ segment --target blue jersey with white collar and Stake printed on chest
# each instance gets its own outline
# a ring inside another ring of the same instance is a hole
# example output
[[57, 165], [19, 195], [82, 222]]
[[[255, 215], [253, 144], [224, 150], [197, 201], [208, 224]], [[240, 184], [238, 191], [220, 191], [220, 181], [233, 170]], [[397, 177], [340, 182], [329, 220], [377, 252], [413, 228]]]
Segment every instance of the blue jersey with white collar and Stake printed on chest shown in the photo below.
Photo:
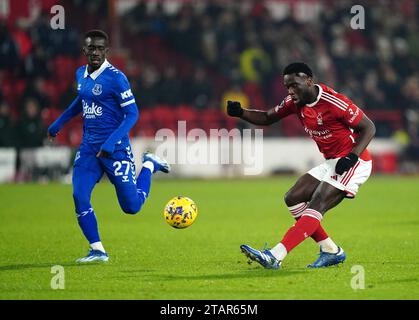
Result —
[[[124, 120], [122, 108], [135, 103], [128, 79], [107, 60], [88, 74], [87, 66], [76, 71], [77, 91], [83, 107], [83, 142], [99, 144]], [[121, 143], [128, 143], [128, 134]]]

